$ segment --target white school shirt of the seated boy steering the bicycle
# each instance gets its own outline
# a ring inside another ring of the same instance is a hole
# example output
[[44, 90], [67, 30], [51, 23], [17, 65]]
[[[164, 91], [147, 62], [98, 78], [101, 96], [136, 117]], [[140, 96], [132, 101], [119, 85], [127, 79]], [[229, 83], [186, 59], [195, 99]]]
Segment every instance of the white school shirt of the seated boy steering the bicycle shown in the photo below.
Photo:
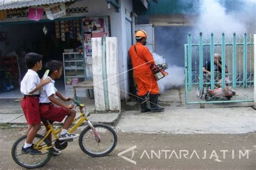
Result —
[[[51, 77], [48, 76], [49, 79], [51, 79]], [[51, 82], [48, 84], [45, 84], [45, 86], [43, 87], [43, 90], [41, 90], [41, 94], [39, 96], [39, 103], [51, 103], [51, 101], [49, 100], [49, 96], [51, 96], [52, 94], [55, 95], [57, 89], [54, 86], [55, 81], [51, 79]]]

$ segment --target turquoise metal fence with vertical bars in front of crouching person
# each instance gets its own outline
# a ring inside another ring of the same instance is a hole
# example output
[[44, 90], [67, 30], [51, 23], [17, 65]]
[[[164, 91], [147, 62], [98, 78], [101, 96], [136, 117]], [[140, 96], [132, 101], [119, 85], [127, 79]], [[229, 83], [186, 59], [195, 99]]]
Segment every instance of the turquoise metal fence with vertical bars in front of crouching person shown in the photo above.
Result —
[[[186, 104], [253, 102], [252, 34], [203, 36], [199, 33], [197, 37], [188, 34], [184, 48]], [[203, 67], [208, 62], [211, 70], [216, 68], [214, 53], [221, 55], [221, 73], [205, 74]], [[228, 73], [225, 73], [225, 66]], [[227, 96], [231, 92], [233, 95]]]

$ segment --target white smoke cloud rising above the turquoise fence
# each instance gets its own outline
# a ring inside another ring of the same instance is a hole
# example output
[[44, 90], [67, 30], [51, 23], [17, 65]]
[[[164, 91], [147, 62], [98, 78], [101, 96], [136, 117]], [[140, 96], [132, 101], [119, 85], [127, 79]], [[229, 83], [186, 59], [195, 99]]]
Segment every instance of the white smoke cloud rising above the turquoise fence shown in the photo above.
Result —
[[[238, 3], [234, 2], [234, 3]], [[204, 0], [199, 8], [199, 17], [193, 33], [203, 32], [204, 34], [242, 34], [251, 30], [248, 22], [255, 23], [255, 0], [243, 1], [238, 10], [227, 13], [226, 8], [217, 0]], [[254, 8], [253, 8], [254, 6]], [[255, 31], [255, 27], [254, 27]]]

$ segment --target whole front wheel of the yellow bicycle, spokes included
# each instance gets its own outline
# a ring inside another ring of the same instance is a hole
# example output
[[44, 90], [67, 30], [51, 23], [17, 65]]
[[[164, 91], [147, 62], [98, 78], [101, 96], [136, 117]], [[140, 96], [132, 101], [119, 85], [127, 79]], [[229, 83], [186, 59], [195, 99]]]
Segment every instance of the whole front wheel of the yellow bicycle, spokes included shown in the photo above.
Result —
[[103, 157], [113, 151], [117, 145], [117, 133], [105, 124], [93, 124], [98, 132], [100, 141], [97, 141], [95, 133], [90, 126], [80, 133], [79, 146], [81, 150], [91, 157]]

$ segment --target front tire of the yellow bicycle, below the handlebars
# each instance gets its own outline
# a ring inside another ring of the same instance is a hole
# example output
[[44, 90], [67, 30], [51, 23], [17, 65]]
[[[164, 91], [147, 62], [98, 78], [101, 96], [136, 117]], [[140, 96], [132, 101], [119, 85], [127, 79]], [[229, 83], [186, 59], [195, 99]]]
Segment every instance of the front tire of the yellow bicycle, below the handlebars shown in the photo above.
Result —
[[[103, 128], [103, 129], [107, 130], [112, 135], [112, 141], [111, 141], [110, 147], [106, 148], [106, 150], [101, 151], [101, 152], [95, 152], [95, 151], [93, 152], [93, 151], [89, 150], [89, 148], [87, 148], [87, 146], [85, 146], [85, 145], [90, 145], [89, 138], [91, 138], [91, 137], [94, 138], [94, 142], [96, 144], [98, 143], [95, 139], [94, 133], [92, 132], [90, 126], [86, 126], [86, 128], [80, 133], [79, 146], [80, 146], [81, 150], [84, 153], [86, 153], [87, 155], [90, 155], [91, 157], [103, 157], [103, 156], [109, 154], [110, 152], [112, 152], [114, 150], [114, 148], [116, 147], [116, 145], [117, 145], [117, 133], [116, 133], [116, 131], [114, 131], [113, 128], [111, 128], [110, 126], [105, 125], [105, 124], [93, 124], [93, 127], [96, 130], [98, 128]], [[91, 132], [90, 137], [86, 137], [86, 134], [89, 133], [89, 132]], [[99, 131], [97, 130], [97, 132], [99, 132]], [[105, 143], [105, 140], [109, 140], [109, 139], [107, 139], [103, 136], [103, 133], [105, 133], [105, 132], [99, 132], [99, 136], [101, 138], [101, 141], [98, 143], [98, 146], [100, 144], [103, 144], [102, 141], [104, 141], [104, 143]], [[93, 141], [93, 139], [92, 139], [92, 141]], [[100, 148], [100, 146], [99, 146], [99, 148]]]

